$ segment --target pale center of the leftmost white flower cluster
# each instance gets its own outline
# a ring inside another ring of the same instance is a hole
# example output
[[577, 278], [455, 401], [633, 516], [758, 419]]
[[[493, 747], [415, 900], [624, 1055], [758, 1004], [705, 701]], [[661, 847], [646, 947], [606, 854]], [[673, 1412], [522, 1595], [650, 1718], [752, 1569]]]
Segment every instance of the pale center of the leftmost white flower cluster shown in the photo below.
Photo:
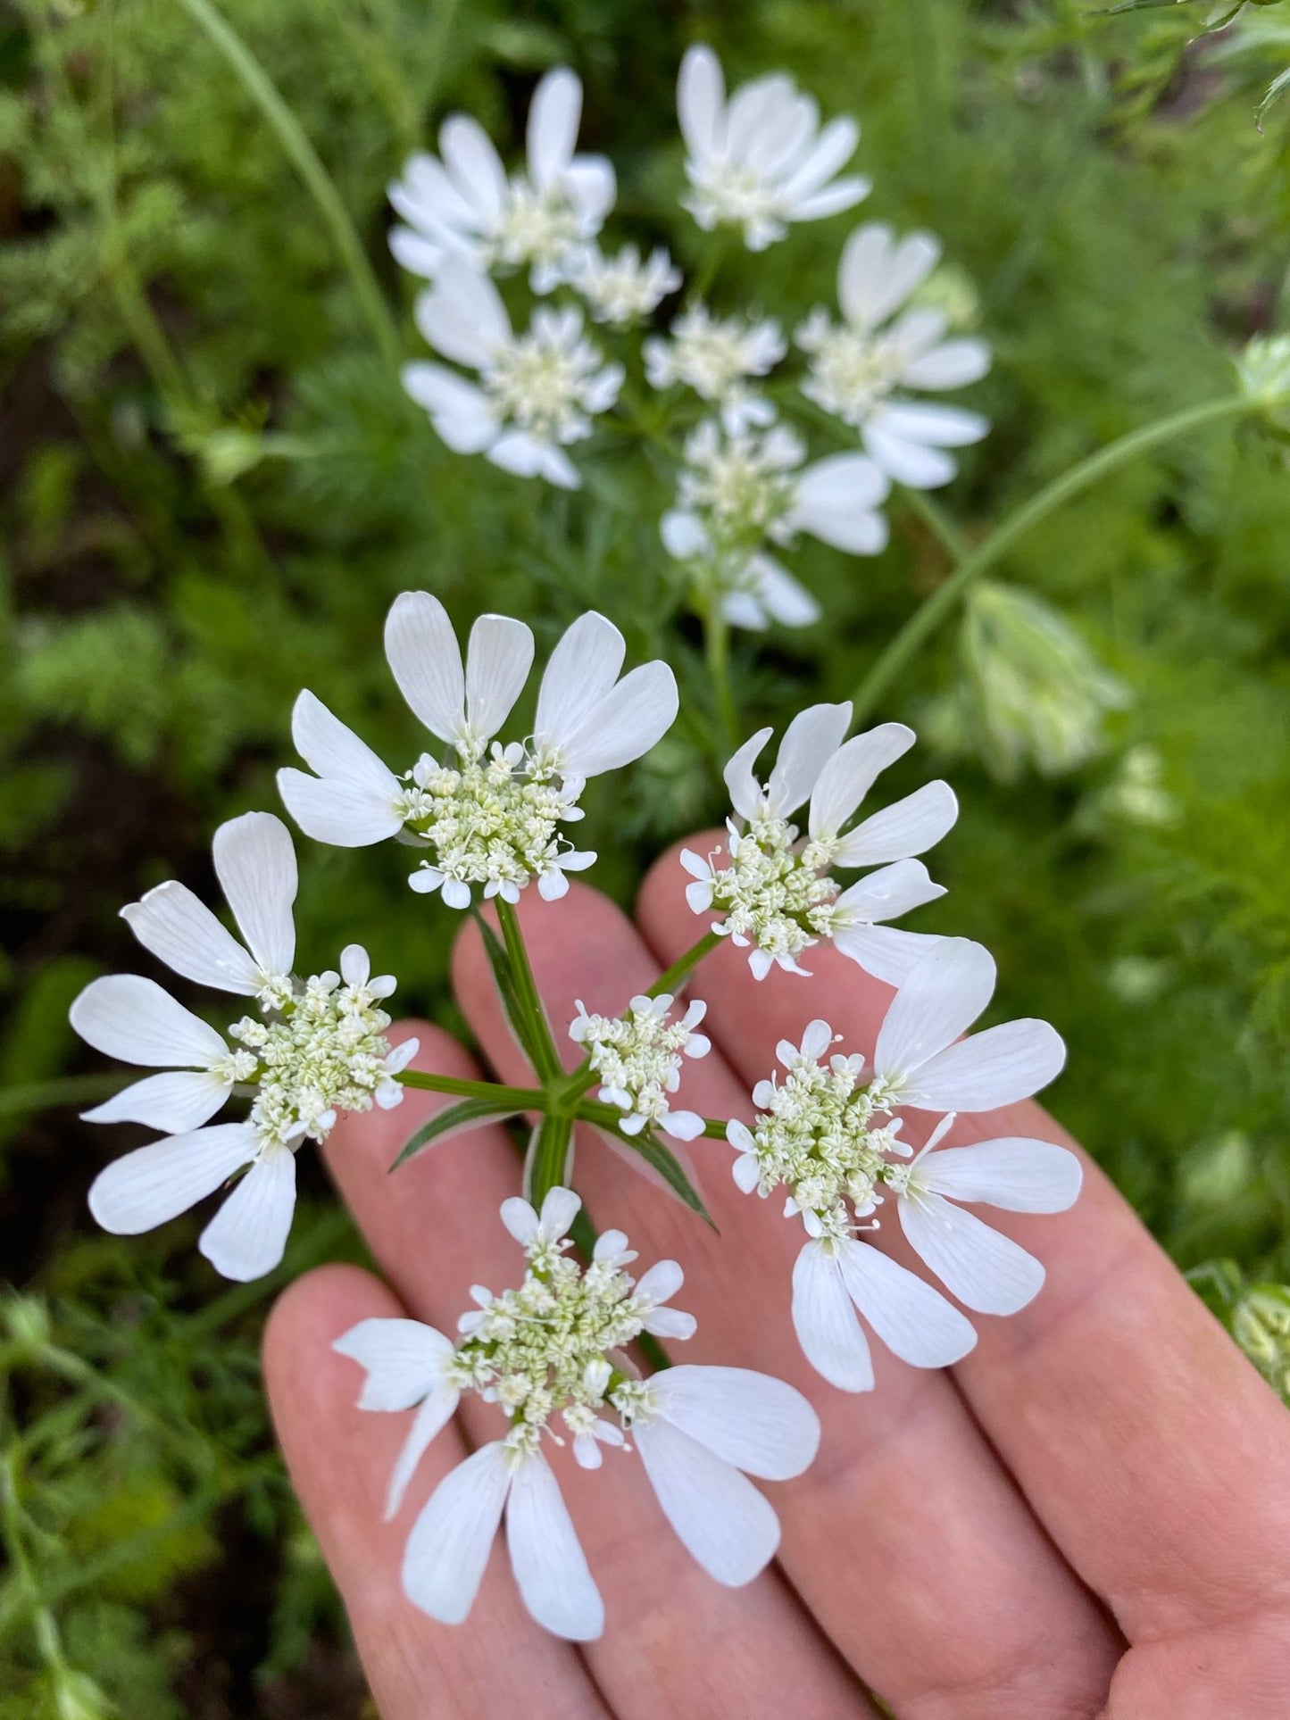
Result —
[[[268, 1006], [261, 1003], [268, 1013]], [[268, 1020], [244, 1015], [229, 1029], [236, 1080], [255, 1082], [249, 1121], [267, 1146], [325, 1140], [337, 1111], [368, 1111], [389, 1080], [389, 1015], [365, 986], [315, 974]]]

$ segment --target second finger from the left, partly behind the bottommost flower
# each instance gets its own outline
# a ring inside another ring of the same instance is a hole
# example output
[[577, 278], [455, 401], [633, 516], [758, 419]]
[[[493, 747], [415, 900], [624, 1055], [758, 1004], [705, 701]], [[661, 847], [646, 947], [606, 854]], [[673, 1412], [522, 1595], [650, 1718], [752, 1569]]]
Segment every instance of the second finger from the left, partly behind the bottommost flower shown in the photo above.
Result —
[[[445, 1034], [418, 1027], [418, 1066], [475, 1075]], [[437, 1097], [408, 1094], [399, 1109], [351, 1118], [327, 1158], [373, 1254], [418, 1318], [456, 1330], [470, 1287], [502, 1290], [523, 1261], [497, 1209], [519, 1189], [519, 1156], [501, 1128], [445, 1142], [389, 1175], [416, 1123]], [[650, 1264], [645, 1261], [643, 1264]], [[471, 1441], [497, 1438], [499, 1410], [468, 1397]], [[585, 1474], [550, 1453], [592, 1574], [605, 1601], [605, 1632], [587, 1662], [612, 1711], [624, 1720], [702, 1713], [743, 1720], [793, 1710], [834, 1720], [872, 1715], [850, 1674], [774, 1576], [733, 1591], [712, 1582], [685, 1553], [631, 1455], [609, 1452]], [[406, 1533], [411, 1514], [401, 1519]], [[494, 1569], [502, 1563], [494, 1558]]]

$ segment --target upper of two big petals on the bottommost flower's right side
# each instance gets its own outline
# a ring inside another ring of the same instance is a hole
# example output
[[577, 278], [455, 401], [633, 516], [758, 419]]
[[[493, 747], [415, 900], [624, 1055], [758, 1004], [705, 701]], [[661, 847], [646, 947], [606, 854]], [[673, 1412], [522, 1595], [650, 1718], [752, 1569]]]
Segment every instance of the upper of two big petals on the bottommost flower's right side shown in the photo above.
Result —
[[667, 1367], [654, 1402], [674, 1428], [764, 1481], [788, 1481], [820, 1443], [815, 1410], [793, 1386], [748, 1367]]

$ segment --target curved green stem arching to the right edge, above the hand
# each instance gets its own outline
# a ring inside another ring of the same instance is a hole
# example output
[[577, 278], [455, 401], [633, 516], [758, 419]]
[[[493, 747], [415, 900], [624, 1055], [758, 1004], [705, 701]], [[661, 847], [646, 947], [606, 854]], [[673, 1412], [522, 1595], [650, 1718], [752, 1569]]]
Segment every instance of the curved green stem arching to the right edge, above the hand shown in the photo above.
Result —
[[1128, 435], [1120, 437], [1116, 442], [1080, 461], [1078, 466], [1063, 471], [1060, 478], [1054, 478], [1037, 495], [1032, 495], [1029, 502], [1023, 502], [1022, 507], [1011, 513], [987, 538], [982, 538], [974, 550], [968, 550], [944, 585], [939, 585], [913, 611], [860, 683], [853, 700], [855, 721], [860, 722], [872, 712], [874, 705], [900, 676], [918, 647], [949, 616], [972, 581], [999, 561], [1032, 526], [1037, 526], [1041, 519], [1061, 507], [1063, 502], [1090, 488], [1120, 466], [1127, 466], [1139, 454], [1146, 454], [1163, 442], [1171, 442], [1175, 437], [1187, 435], [1189, 430], [1199, 430], [1202, 425], [1219, 423], [1225, 418], [1244, 418], [1249, 413], [1266, 409], [1268, 401], [1245, 394], [1225, 396], [1221, 401], [1204, 401], [1201, 406], [1189, 406], [1180, 413], [1171, 413], [1168, 418], [1159, 418], [1142, 430], [1132, 430]]

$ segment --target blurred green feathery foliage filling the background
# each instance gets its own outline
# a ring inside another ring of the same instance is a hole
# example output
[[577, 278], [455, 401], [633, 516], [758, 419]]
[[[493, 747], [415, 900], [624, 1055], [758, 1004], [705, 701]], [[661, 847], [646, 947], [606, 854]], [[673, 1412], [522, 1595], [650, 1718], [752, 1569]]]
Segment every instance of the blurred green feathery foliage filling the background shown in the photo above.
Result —
[[[657, 475], [605, 458], [554, 494], [449, 454], [401, 397], [390, 351], [420, 342], [384, 187], [445, 107], [514, 148], [535, 77], [574, 65], [617, 230], [681, 261], [691, 40], [858, 114], [865, 213], [943, 236], [941, 291], [996, 347], [994, 432], [941, 497], [968, 544], [1116, 435], [1230, 390], [1232, 353], [1290, 323], [1290, 103], [1254, 119], [1290, 7], [1195, 40], [1195, 7], [1066, 0], [220, 0], [353, 220], [365, 298], [203, 5], [0, 5], [3, 1720], [370, 1711], [256, 1362], [272, 1290], [358, 1244], [311, 1154], [267, 1283], [213, 1281], [189, 1219], [93, 1233], [84, 1190], [138, 1132], [76, 1121], [103, 1075], [65, 1011], [138, 965], [119, 905], [170, 875], [208, 888], [212, 827], [275, 805], [299, 686], [411, 757], [378, 647], [406, 587], [459, 621], [523, 614], [540, 648], [595, 604], [635, 657], [676, 664], [686, 721], [630, 795], [588, 796], [621, 900], [721, 810]], [[728, 261], [717, 303], [831, 301], [845, 230]], [[633, 483], [657, 488], [645, 516]], [[898, 499], [882, 557], [815, 545], [795, 571], [826, 617], [738, 638], [748, 728], [846, 697], [948, 559]], [[881, 712], [924, 733], [896, 786], [932, 750], [963, 802], [937, 851], [951, 893], [917, 924], [980, 937], [999, 1006], [1061, 1027], [1054, 1111], [1283, 1391], [1288, 617], [1285, 447], [1216, 427], [1018, 540]], [[456, 1025], [451, 917], [397, 855], [301, 858], [310, 960], [359, 936], [406, 1008]]]

